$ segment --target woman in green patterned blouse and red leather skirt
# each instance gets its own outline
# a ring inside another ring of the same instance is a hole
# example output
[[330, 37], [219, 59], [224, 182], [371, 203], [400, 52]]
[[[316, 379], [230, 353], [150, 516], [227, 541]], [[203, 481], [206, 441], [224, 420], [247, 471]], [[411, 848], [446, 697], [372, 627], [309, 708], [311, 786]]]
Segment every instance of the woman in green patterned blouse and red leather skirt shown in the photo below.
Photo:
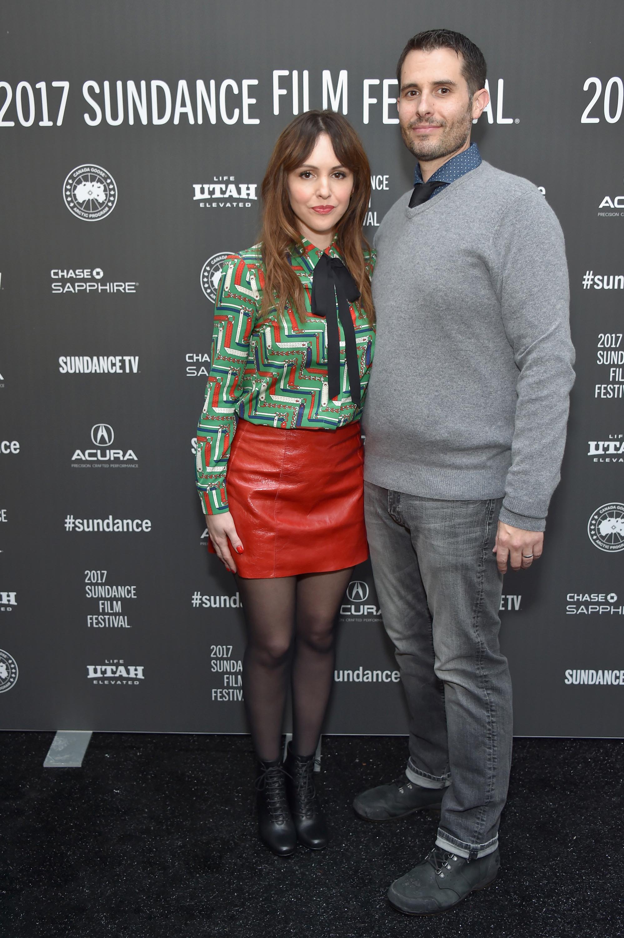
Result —
[[280, 135], [262, 182], [261, 242], [223, 267], [198, 429], [210, 547], [236, 574], [245, 613], [260, 838], [282, 856], [297, 838], [327, 843], [314, 754], [334, 619], [367, 556], [358, 421], [375, 340], [369, 197], [368, 160], [344, 117], [309, 111]]

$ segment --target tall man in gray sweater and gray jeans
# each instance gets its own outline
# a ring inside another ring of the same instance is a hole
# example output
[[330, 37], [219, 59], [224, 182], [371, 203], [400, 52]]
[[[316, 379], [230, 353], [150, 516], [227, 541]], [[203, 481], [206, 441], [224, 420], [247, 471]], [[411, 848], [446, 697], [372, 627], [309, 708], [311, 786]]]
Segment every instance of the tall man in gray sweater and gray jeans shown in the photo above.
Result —
[[554, 213], [470, 145], [489, 99], [483, 54], [459, 33], [420, 33], [397, 77], [401, 133], [418, 163], [413, 193], [375, 239], [364, 484], [381, 614], [409, 704], [409, 762], [354, 808], [369, 821], [440, 809], [436, 845], [388, 891], [419, 915], [498, 872], [512, 752], [502, 574], [542, 554], [573, 349]]

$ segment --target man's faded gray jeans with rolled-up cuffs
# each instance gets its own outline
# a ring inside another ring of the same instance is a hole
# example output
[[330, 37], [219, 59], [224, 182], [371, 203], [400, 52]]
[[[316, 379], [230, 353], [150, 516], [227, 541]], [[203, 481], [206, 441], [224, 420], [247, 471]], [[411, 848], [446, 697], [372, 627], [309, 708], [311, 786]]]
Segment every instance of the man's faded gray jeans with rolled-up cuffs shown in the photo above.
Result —
[[364, 483], [383, 623], [409, 708], [412, 781], [446, 788], [438, 840], [496, 850], [512, 757], [512, 682], [498, 647], [501, 499], [444, 501]]

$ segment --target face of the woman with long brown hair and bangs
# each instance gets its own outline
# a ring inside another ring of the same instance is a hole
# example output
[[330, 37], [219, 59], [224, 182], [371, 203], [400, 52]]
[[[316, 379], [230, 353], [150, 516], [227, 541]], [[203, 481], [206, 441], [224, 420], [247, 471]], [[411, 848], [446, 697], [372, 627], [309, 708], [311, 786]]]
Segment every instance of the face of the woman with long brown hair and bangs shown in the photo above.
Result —
[[338, 221], [349, 207], [353, 182], [326, 133], [319, 134], [305, 163], [289, 173], [290, 207], [299, 231], [320, 250], [332, 243]]

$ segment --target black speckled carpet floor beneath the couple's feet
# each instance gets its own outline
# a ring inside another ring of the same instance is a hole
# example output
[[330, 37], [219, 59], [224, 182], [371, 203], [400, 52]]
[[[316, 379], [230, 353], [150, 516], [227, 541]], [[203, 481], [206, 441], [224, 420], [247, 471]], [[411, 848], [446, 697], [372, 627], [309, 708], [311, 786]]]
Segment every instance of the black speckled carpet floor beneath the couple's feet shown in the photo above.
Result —
[[405, 738], [323, 737], [332, 842], [280, 859], [256, 839], [247, 737], [94, 734], [82, 768], [44, 769], [52, 736], [0, 734], [2, 938], [624, 935], [617, 740], [516, 740], [498, 880], [411, 918], [385, 892], [435, 819], [350, 809], [400, 773]]

